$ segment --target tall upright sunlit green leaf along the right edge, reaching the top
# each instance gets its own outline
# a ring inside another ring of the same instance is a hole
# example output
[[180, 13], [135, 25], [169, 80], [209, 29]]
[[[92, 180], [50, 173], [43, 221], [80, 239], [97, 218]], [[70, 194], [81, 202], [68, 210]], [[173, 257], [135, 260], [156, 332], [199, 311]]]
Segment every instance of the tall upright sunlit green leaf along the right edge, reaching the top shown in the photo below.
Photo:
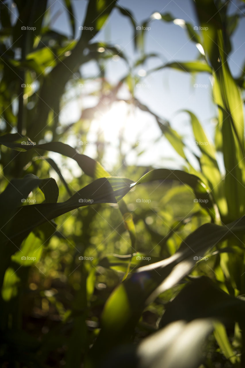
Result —
[[213, 0], [197, 0], [195, 6], [203, 27], [203, 47], [214, 70], [213, 93], [214, 101], [219, 107], [219, 124], [223, 135], [228, 216], [229, 219], [234, 219], [245, 211], [242, 179], [245, 157], [243, 101], [224, 52], [225, 22], [222, 22]]

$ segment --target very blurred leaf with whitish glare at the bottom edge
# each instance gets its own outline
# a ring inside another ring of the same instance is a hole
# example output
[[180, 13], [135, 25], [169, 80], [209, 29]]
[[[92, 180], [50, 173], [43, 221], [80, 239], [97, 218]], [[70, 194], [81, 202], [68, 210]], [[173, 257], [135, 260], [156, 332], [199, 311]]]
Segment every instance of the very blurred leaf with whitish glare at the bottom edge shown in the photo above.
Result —
[[197, 368], [203, 360], [203, 340], [212, 332], [211, 319], [173, 322], [146, 337], [137, 347], [115, 349], [102, 368]]

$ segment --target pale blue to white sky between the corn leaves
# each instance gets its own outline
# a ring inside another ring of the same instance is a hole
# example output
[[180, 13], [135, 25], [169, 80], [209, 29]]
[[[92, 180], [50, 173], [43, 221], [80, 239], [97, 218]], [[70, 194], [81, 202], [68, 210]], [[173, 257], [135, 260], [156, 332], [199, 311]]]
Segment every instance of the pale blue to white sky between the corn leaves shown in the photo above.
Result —
[[[79, 36], [79, 32], [81, 32], [79, 31], [79, 26], [84, 19], [86, 4], [87, 1], [72, 1], [77, 22], [77, 37]], [[134, 14], [136, 24], [141, 24], [143, 20], [149, 18], [149, 16], [155, 12], [171, 13], [175, 18], [184, 19], [193, 25], [197, 24], [193, 2], [190, 0], [171, 0], [169, 2], [159, 0], [121, 0], [118, 1], [118, 4], [121, 7], [129, 9], [132, 14]], [[238, 1], [231, 1], [231, 13], [238, 11], [238, 4]], [[61, 5], [61, 2], [59, 0], [52, 0], [50, 1], [50, 6], [51, 17], [53, 17], [56, 12], [60, 12], [60, 15], [53, 24], [53, 28], [58, 32], [71, 33], [68, 27], [67, 13]], [[151, 29], [145, 32], [145, 53], [159, 53], [161, 55], [161, 60], [158, 58], [148, 60], [143, 67], [145, 70], [160, 66], [163, 62], [167, 61], [188, 61], [198, 57], [199, 52], [195, 44], [189, 40], [187, 33], [180, 26], [172, 22], [167, 23], [160, 20], [152, 20], [150, 27]], [[241, 72], [245, 59], [244, 31], [245, 21], [242, 19], [237, 31], [232, 37], [233, 49], [228, 61], [234, 76], [239, 75]], [[106, 41], [118, 45], [127, 55], [128, 59], [133, 62], [137, 60], [139, 54], [136, 54], [134, 51], [132, 37], [132, 25], [129, 20], [123, 17], [118, 10], [115, 9], [110, 15], [106, 25], [99, 34], [96, 35], [95, 41]], [[142, 67], [139, 67], [139, 69], [140, 68]], [[108, 61], [105, 70], [106, 78], [114, 83], [128, 73], [127, 65], [123, 60]], [[97, 71], [96, 64], [93, 63], [89, 63], [82, 68], [84, 77], [93, 74], [96, 75]], [[194, 80], [189, 74], [168, 68], [143, 78], [141, 83], [145, 85], [145, 87], [136, 89], [136, 97], [160, 117], [169, 120], [172, 127], [185, 137], [185, 142], [193, 148], [193, 151], [198, 152], [193, 144], [194, 139], [189, 127], [188, 115], [179, 112], [180, 110], [188, 109], [195, 113], [205, 127], [207, 134], [210, 138], [213, 138], [214, 123], [212, 123], [212, 118], [216, 116], [216, 108], [212, 103], [210, 75], [200, 73], [196, 75], [196, 79]], [[197, 84], [198, 88], [194, 88], [194, 84]], [[82, 106], [85, 107], [85, 105], [86, 100], [84, 100]], [[74, 116], [76, 116], [75, 112], [77, 111], [76, 117], [79, 118], [79, 109], [81, 109], [81, 105], [78, 104], [76, 109], [75, 102], [73, 102], [72, 107], [67, 106], [67, 109], [64, 109], [63, 119], [69, 120], [69, 116], [71, 118], [71, 113], [69, 112], [71, 110], [75, 114]], [[72, 119], [74, 116], [72, 116]], [[132, 128], [132, 125], [134, 125], [134, 128]], [[107, 127], [107, 129], [108, 128], [110, 129], [110, 127]], [[96, 128], [91, 126], [91, 129], [93, 130]], [[127, 129], [126, 131], [128, 136], [132, 136], [132, 141], [134, 141], [134, 139], [139, 139], [139, 151], [146, 150], [139, 158], [136, 157], [135, 153], [131, 152], [128, 155], [128, 163], [153, 164], [157, 167], [181, 166], [181, 160], [174, 153], [174, 150], [166, 139], [161, 138], [159, 142], [153, 144], [153, 142], [160, 137], [160, 131], [155, 120], [150, 118], [148, 114], [138, 113], [135, 122], [131, 122], [131, 132]], [[95, 138], [93, 132], [91, 132], [91, 134], [91, 139]], [[114, 151], [110, 151], [109, 149], [109, 152], [107, 152], [104, 158], [105, 161], [110, 161], [111, 157], [116, 155], [118, 142], [115, 135], [109, 135], [107, 138], [109, 140], [111, 139], [112, 145], [114, 145]], [[127, 137], [125, 137], [125, 139], [127, 139]], [[127, 149], [127, 146], [125, 146], [126, 152]], [[88, 147], [86, 153], [91, 156], [95, 155], [95, 150], [92, 145]], [[173, 160], [175, 160], [175, 163]]]

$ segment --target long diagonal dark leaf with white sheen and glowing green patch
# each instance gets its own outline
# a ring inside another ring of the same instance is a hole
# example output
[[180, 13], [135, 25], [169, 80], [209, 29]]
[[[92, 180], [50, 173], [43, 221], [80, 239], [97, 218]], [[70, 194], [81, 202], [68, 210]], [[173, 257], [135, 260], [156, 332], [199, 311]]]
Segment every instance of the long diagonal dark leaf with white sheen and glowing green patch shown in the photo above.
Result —
[[244, 231], [245, 216], [227, 226], [204, 224], [182, 241], [174, 255], [131, 273], [105, 304], [92, 353], [106, 354], [112, 346], [129, 340], [146, 305], [180, 282], [208, 249]]

